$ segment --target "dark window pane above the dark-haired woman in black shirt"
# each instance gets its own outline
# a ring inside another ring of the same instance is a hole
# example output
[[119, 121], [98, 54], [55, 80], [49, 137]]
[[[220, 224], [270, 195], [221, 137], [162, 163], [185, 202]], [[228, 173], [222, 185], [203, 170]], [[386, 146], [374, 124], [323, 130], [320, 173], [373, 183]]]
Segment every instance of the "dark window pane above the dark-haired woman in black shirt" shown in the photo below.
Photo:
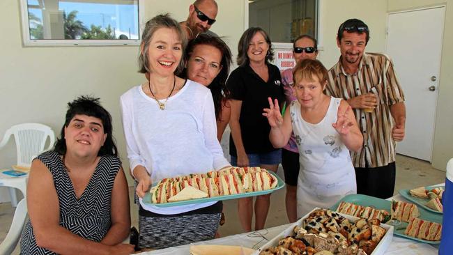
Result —
[[249, 27], [260, 26], [273, 42], [318, 37], [318, 0], [249, 0]]

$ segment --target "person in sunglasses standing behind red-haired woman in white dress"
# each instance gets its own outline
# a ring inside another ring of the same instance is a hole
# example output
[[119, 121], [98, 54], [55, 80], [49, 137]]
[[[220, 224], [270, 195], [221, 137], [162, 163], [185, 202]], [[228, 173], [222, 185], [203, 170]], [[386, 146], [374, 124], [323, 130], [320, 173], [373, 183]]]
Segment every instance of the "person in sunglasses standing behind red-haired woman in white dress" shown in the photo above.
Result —
[[[293, 56], [295, 62], [299, 63], [303, 59], [316, 59], [318, 49], [316, 39], [309, 35], [302, 35], [295, 38], [293, 42]], [[282, 84], [284, 88], [286, 105], [288, 106], [295, 98], [293, 88], [293, 68], [282, 71]], [[299, 176], [299, 150], [295, 143], [294, 134], [291, 134], [288, 144], [282, 150], [282, 167], [286, 183], [286, 215], [289, 222], [295, 222], [298, 217], [297, 212], [297, 187]]]

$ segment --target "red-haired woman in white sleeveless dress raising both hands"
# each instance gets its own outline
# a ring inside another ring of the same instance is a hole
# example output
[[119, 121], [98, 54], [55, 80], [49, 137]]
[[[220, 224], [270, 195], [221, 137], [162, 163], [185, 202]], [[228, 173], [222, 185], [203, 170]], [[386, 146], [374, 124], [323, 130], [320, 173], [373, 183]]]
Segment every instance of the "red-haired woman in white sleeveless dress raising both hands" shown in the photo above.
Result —
[[329, 208], [346, 194], [356, 193], [349, 150], [359, 150], [363, 137], [348, 103], [323, 93], [327, 77], [321, 62], [300, 61], [293, 71], [297, 100], [283, 117], [278, 101], [270, 98], [270, 107], [263, 112], [275, 148], [288, 144], [291, 132], [295, 134], [300, 160], [298, 217], [315, 207]]

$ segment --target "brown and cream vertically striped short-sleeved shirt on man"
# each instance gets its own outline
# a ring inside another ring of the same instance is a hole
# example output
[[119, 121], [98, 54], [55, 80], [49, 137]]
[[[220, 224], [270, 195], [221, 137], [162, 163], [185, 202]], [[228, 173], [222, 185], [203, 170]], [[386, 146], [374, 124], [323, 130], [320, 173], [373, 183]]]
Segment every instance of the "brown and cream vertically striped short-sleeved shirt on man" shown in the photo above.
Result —
[[404, 102], [404, 95], [390, 57], [385, 54], [364, 53], [358, 71], [348, 75], [341, 65], [340, 56], [328, 75], [327, 95], [345, 100], [366, 93], [375, 93], [378, 96], [378, 105], [373, 112], [354, 109], [364, 142], [362, 150], [351, 153], [354, 167], [384, 167], [394, 162], [394, 120], [390, 105]]

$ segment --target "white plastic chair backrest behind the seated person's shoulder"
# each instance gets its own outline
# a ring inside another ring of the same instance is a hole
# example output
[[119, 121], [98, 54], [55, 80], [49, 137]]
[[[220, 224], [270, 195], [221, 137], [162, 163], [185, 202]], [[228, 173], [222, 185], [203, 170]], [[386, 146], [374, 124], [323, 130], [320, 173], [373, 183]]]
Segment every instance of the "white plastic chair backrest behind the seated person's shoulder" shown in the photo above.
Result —
[[[16, 143], [17, 165], [20, 167], [30, 167], [32, 157], [49, 150], [54, 146], [55, 134], [52, 128], [40, 123], [23, 123], [13, 125], [9, 130], [6, 130], [3, 141], [0, 143], [0, 148], [13, 135]], [[45, 142], [49, 137], [50, 142], [47, 148], [44, 148]]]

